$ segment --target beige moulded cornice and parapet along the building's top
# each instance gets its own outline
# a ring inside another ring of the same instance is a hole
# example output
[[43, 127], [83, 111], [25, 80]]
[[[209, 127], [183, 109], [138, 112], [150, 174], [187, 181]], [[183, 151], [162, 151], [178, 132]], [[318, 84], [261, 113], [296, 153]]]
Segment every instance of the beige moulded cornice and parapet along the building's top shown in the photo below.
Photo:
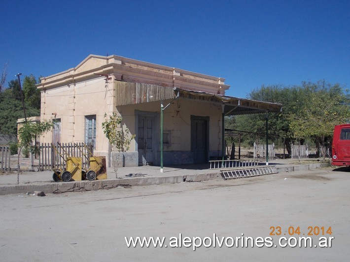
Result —
[[[100, 74], [100, 75], [99, 75]], [[225, 79], [200, 74], [180, 68], [161, 66], [116, 55], [108, 57], [89, 55], [76, 67], [60, 73], [40, 78], [37, 84], [40, 90], [70, 85], [102, 75], [114, 75], [117, 80], [161, 85], [166, 87], [182, 87], [204, 92], [224, 94], [230, 86]]]

